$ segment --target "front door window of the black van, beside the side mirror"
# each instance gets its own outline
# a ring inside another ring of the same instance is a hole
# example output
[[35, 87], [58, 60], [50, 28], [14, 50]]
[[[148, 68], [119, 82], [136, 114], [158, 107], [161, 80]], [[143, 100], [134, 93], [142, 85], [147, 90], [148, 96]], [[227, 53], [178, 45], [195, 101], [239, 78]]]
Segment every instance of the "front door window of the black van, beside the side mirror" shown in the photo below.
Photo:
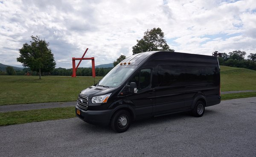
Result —
[[137, 89], [143, 90], [144, 88], [150, 85], [150, 77], [151, 77], [151, 69], [142, 69], [140, 70], [131, 80], [131, 82], [135, 82], [137, 84]]

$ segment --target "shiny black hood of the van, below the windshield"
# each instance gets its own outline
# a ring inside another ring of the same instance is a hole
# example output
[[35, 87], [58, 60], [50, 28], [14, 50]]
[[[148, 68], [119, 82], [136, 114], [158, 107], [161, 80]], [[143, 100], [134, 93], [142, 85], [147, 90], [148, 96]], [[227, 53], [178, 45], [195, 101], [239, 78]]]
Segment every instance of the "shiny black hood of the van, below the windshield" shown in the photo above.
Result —
[[92, 98], [93, 96], [100, 96], [112, 93], [115, 90], [113, 87], [91, 86], [81, 91], [81, 94]]

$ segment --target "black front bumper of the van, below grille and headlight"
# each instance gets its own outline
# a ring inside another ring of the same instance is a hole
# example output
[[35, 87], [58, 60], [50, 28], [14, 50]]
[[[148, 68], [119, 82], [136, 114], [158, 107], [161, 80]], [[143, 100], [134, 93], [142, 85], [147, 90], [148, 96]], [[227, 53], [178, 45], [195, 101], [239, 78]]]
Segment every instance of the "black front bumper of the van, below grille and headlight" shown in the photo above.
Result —
[[[77, 114], [80, 111], [80, 115]], [[76, 105], [76, 116], [84, 122], [95, 125], [108, 125], [111, 119], [112, 110], [82, 110]]]

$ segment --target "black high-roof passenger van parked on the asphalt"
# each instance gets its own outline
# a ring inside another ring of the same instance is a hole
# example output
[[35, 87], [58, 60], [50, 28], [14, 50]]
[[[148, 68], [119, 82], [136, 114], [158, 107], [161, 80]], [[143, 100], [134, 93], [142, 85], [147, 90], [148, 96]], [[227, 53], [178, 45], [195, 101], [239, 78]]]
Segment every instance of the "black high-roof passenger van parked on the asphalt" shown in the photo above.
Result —
[[219, 104], [218, 58], [154, 51], [132, 55], [99, 83], [81, 91], [76, 116], [85, 122], [126, 131], [135, 119], [191, 111]]

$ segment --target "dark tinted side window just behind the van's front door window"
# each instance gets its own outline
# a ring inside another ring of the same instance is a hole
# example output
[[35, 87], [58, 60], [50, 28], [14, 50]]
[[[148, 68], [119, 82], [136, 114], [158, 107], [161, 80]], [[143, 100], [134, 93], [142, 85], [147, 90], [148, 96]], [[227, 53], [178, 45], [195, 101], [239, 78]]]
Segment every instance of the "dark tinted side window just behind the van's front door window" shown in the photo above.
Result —
[[158, 87], [185, 84], [185, 70], [183, 66], [159, 65], [157, 76]]

